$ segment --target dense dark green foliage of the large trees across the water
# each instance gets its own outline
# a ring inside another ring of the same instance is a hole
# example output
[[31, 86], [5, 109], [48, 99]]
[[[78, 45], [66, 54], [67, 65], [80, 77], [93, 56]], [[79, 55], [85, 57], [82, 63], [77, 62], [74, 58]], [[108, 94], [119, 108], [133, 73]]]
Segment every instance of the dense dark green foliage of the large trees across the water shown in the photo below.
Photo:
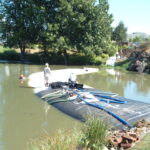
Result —
[[90, 56], [112, 55], [112, 15], [107, 0], [5, 0], [3, 2], [6, 45], [21, 52], [38, 43], [64, 56], [76, 51]]

